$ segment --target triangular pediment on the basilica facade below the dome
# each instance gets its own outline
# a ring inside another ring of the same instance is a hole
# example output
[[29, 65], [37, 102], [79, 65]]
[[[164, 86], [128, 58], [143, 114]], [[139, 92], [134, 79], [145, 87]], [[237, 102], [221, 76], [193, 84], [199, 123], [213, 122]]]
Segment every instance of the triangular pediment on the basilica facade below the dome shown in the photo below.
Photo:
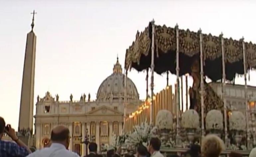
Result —
[[114, 110], [107, 106], [100, 106], [98, 108], [95, 108], [92, 111], [87, 112], [88, 115], [113, 115], [113, 114], [123, 114], [122, 112], [119, 112], [117, 110]]

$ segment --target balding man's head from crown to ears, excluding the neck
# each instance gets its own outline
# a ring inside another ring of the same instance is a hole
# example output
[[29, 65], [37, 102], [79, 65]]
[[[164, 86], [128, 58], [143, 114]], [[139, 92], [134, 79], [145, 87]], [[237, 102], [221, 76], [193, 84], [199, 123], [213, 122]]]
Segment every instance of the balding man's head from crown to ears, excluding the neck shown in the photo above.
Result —
[[64, 125], [58, 125], [52, 130], [51, 140], [55, 142], [62, 142], [69, 139], [69, 130]]

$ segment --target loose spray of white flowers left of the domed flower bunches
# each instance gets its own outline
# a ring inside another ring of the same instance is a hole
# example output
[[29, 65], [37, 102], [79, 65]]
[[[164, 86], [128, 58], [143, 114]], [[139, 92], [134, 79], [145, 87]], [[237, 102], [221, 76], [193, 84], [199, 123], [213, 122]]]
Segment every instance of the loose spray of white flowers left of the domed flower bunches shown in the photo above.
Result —
[[147, 122], [142, 123], [140, 126], [135, 126], [134, 131], [125, 139], [127, 145], [143, 144], [147, 146], [151, 137], [156, 137], [157, 127], [149, 125]]

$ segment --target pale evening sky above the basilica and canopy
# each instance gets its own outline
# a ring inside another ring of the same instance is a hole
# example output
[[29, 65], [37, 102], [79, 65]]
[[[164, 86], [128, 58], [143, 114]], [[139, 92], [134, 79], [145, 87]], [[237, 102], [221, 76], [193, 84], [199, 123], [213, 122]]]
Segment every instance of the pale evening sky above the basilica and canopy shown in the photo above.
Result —
[[[37, 35], [34, 102], [49, 91], [60, 100], [78, 100], [96, 93], [125, 51], [152, 19], [155, 24], [256, 43], [256, 1], [249, 0], [0, 0], [0, 116], [18, 128], [26, 35]], [[255, 72], [249, 85], [256, 86]], [[131, 70], [141, 99], [146, 97], [146, 74]], [[155, 89], [166, 86], [166, 75], [154, 75]], [[169, 84], [174, 85], [175, 75]], [[236, 79], [243, 84], [243, 78]], [[192, 80], [189, 80], [192, 85]], [[34, 106], [35, 110], [35, 106]], [[34, 112], [35, 114], [35, 112]]]

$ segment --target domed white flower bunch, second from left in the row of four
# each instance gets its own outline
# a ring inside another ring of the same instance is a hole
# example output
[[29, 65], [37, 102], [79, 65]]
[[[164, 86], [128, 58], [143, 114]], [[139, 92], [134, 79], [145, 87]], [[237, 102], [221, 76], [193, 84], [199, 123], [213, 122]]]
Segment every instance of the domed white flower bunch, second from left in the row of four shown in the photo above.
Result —
[[182, 114], [181, 126], [186, 129], [196, 129], [199, 127], [199, 115], [193, 110], [189, 109]]

